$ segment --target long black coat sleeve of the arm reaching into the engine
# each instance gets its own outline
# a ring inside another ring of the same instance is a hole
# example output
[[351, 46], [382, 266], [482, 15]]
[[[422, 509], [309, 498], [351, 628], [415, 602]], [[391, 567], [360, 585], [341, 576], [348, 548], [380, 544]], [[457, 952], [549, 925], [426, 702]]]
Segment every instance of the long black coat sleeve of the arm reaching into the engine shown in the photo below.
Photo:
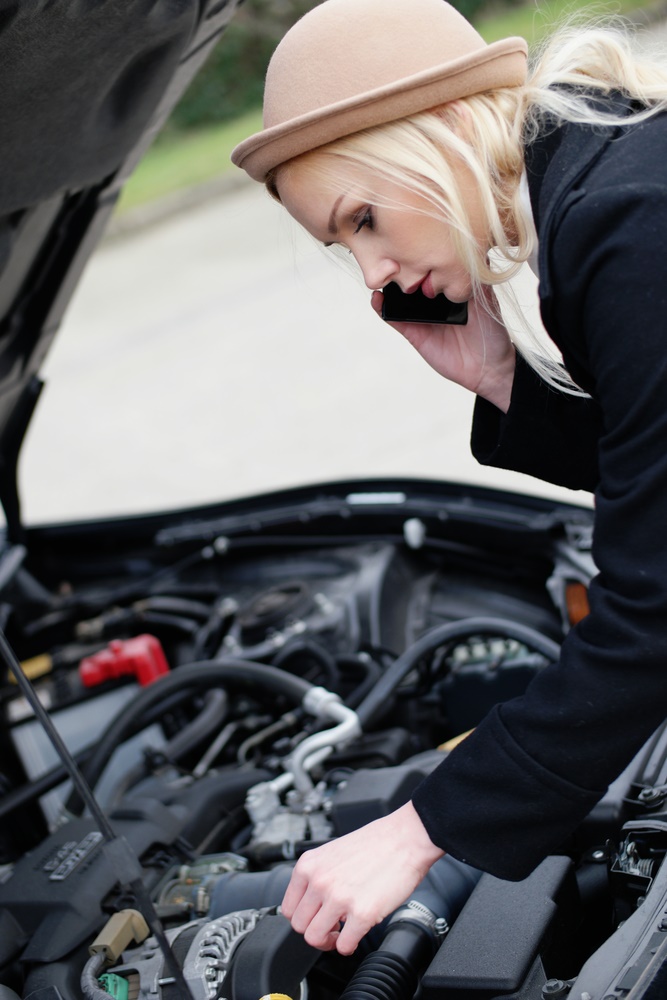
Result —
[[628, 183], [579, 198], [554, 239], [554, 315], [604, 426], [591, 611], [413, 797], [436, 844], [501, 878], [558, 850], [667, 716], [665, 232], [667, 186]]

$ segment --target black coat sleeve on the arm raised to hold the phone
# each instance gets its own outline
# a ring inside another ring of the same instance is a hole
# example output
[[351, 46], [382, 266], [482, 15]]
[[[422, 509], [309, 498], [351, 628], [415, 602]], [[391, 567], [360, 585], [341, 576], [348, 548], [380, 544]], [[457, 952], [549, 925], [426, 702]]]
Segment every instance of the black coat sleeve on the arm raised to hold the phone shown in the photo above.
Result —
[[471, 449], [481, 465], [592, 493], [601, 421], [594, 400], [551, 388], [517, 355], [507, 413], [477, 398]]

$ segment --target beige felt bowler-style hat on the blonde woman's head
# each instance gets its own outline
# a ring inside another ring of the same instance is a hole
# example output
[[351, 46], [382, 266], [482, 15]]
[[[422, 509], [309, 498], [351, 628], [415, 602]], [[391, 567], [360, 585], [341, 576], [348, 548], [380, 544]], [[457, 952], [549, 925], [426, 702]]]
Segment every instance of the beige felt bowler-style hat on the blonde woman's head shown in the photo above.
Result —
[[325, 0], [273, 54], [264, 128], [233, 162], [255, 180], [344, 135], [526, 79], [527, 45], [487, 45], [445, 0]]

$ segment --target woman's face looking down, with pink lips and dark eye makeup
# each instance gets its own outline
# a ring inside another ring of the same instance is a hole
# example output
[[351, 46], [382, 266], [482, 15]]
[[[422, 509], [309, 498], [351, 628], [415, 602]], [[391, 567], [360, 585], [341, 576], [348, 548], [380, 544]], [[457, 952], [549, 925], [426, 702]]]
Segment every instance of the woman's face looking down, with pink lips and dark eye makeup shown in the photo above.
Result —
[[[334, 186], [318, 172], [317, 154], [281, 171], [277, 188], [287, 211], [315, 239], [349, 250], [368, 288], [395, 281], [407, 293], [421, 288], [428, 298], [439, 292], [452, 302], [471, 297], [472, 283], [454, 249], [451, 227], [417, 193], [352, 165], [341, 166]], [[481, 246], [481, 213], [469, 214]]]

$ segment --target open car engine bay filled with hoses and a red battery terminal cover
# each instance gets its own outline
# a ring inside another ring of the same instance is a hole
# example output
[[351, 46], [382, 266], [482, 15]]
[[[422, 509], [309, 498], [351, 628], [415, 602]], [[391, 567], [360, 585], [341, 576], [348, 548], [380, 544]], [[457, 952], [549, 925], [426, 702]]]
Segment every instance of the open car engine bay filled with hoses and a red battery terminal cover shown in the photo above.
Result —
[[7, 547], [3, 630], [113, 836], [5, 671], [3, 1000], [580, 1000], [578, 977], [619, 963], [600, 997], [635, 988], [667, 930], [663, 731], [524, 882], [445, 856], [349, 957], [280, 913], [304, 851], [406, 802], [585, 613], [587, 512], [482, 492], [342, 491]]

